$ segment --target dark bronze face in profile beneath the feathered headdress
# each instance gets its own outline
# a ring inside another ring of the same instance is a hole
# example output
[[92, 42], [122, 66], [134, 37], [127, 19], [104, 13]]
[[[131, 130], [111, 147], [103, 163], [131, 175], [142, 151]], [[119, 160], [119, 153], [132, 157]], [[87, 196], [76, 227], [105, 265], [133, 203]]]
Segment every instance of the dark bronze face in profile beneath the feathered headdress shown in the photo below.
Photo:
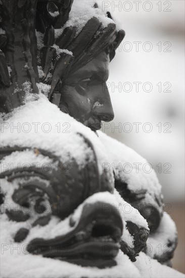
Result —
[[71, 70], [62, 87], [60, 109], [92, 130], [100, 129], [101, 121], [114, 118], [108, 76], [109, 56], [105, 52], [75, 72]]

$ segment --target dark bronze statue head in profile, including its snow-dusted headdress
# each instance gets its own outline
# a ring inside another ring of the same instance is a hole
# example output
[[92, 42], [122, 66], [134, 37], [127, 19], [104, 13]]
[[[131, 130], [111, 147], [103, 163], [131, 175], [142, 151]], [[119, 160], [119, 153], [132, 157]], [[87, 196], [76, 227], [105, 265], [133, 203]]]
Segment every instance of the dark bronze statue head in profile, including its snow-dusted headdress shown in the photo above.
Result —
[[[81, 5], [83, 14], [85, 3], [76, 1], [72, 14], [69, 14], [72, 3], [71, 0], [31, 4], [25, 1], [15, 7], [20, 17], [15, 19], [19, 26], [15, 39], [10, 39], [10, 31], [1, 35], [2, 49], [5, 50], [1, 53], [2, 67], [5, 68], [1, 77], [5, 86], [1, 99], [6, 103], [6, 107], [1, 106], [2, 112], [10, 112], [23, 102], [25, 91], [22, 84], [28, 81], [33, 92], [37, 91], [38, 82], [50, 85], [49, 100], [92, 130], [100, 129], [101, 121], [114, 118], [106, 81], [109, 62], [115, 56], [124, 31], [117, 30], [110, 13], [103, 13], [97, 4], [88, 4], [90, 14], [84, 20], [82, 15], [75, 14], [75, 9]], [[35, 20], [33, 15], [28, 18], [30, 30], [26, 30], [28, 22], [24, 18], [28, 9], [35, 10], [36, 14]], [[76, 19], [72, 22], [74, 15]], [[15, 30], [13, 22], [13, 11], [4, 3], [2, 28]], [[19, 67], [14, 65], [14, 55]], [[20, 68], [22, 74], [17, 73]]]

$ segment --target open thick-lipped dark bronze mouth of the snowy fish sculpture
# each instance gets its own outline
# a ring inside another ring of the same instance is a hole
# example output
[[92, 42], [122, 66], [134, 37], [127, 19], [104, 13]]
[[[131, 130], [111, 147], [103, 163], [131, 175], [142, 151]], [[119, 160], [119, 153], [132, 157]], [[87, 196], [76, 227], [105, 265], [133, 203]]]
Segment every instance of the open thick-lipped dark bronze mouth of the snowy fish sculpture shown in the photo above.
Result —
[[117, 211], [102, 213], [102, 204], [83, 208], [76, 228], [54, 239], [32, 240], [27, 250], [35, 255], [61, 259], [81, 266], [113, 266], [119, 251], [122, 221]]

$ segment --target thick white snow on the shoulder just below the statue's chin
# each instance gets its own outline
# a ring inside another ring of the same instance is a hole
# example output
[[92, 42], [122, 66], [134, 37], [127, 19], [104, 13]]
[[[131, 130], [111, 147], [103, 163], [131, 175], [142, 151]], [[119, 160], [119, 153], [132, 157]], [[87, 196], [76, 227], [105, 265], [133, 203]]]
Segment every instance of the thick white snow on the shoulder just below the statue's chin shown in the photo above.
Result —
[[98, 134], [109, 152], [109, 160], [104, 162], [104, 167], [114, 170], [115, 175], [126, 182], [131, 191], [146, 190], [151, 196], [161, 195], [157, 175], [153, 169], [149, 169], [145, 158], [105, 133], [99, 131]]

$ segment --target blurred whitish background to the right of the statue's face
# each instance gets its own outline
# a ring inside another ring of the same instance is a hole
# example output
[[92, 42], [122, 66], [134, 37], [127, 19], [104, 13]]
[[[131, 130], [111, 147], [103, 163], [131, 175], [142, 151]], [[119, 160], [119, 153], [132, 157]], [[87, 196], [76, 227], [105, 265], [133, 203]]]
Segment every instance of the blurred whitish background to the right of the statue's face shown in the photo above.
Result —
[[184, 1], [98, 3], [126, 32], [108, 79], [115, 118], [102, 130], [152, 164], [165, 200], [182, 200]]

